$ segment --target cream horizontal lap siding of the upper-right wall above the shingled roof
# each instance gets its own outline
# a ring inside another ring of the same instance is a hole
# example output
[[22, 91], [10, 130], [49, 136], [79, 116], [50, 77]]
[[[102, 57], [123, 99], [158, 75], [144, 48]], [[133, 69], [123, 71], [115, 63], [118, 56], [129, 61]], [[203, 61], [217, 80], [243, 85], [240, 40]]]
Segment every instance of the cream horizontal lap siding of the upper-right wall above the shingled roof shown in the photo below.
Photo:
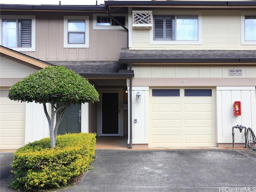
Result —
[[[153, 14], [154, 14], [153, 10]], [[199, 11], [200, 12], [200, 11]], [[159, 13], [159, 12], [157, 12]], [[172, 12], [168, 12], [171, 14]], [[182, 13], [182, 12], [181, 12]], [[183, 12], [184, 14], [186, 12]], [[256, 12], [254, 13], [256, 14]], [[150, 44], [150, 30], [132, 30], [132, 49], [256, 49], [241, 45], [240, 11], [202, 11], [202, 44]], [[153, 29], [151, 29], [153, 30]]]

